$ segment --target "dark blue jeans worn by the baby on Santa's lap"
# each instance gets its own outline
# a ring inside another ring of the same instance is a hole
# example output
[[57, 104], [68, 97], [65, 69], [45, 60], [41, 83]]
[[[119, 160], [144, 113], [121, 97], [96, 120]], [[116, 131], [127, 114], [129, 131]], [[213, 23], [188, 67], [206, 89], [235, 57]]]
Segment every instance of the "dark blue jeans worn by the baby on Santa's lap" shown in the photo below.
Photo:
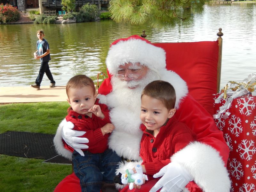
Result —
[[84, 157], [74, 151], [72, 163], [74, 172], [80, 179], [82, 192], [99, 192], [102, 181], [114, 183], [119, 162], [121, 158], [112, 149], [96, 154], [84, 151]]

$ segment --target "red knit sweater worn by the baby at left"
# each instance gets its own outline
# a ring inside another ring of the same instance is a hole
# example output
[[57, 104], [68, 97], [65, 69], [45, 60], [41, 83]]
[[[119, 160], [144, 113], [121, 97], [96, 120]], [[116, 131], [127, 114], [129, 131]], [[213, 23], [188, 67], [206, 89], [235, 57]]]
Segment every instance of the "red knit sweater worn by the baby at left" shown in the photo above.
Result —
[[[100, 106], [100, 109], [105, 116], [104, 119], [95, 116], [93, 113], [92, 117], [89, 117], [87, 115], [78, 114], [73, 110], [69, 110], [68, 115], [66, 116], [66, 120], [72, 122], [75, 125], [73, 130], [86, 131], [83, 137], [89, 139], [90, 143], [88, 143], [89, 148], [82, 149], [83, 151], [88, 150], [91, 153], [103, 153], [108, 148], [109, 134], [105, 134], [103, 136], [100, 128], [111, 122], [109, 120], [108, 107], [104, 104], [100, 104], [99, 99], [96, 100], [95, 105]], [[71, 152], [74, 151], [74, 149], [70, 147], [66, 142], [63, 142], [63, 145]]]

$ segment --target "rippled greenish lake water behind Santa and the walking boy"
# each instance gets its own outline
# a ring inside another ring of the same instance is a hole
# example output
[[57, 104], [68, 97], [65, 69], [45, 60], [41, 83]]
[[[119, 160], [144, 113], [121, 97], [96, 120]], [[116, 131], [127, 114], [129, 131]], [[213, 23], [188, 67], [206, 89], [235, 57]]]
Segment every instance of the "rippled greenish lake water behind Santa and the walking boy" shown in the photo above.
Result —
[[[256, 4], [207, 4], [204, 12], [191, 14], [183, 26], [154, 29], [149, 25], [130, 26], [112, 20], [72, 24], [0, 25], [0, 86], [34, 84], [40, 61], [35, 60], [36, 31], [43, 29], [50, 44], [50, 69], [56, 85], [65, 85], [77, 74], [106, 73], [109, 45], [116, 39], [146, 30], [151, 42], [214, 41], [218, 28], [224, 33], [221, 86], [243, 80], [256, 72]], [[100, 79], [101, 80], [101, 79]], [[49, 85], [46, 75], [41, 86]]]

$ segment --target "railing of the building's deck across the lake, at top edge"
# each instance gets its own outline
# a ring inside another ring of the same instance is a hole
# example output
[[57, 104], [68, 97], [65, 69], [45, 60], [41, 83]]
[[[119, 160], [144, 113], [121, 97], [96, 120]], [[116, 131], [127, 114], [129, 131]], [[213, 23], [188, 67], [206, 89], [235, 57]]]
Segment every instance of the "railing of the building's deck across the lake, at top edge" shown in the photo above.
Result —
[[[76, 6], [81, 6], [85, 5], [87, 3], [90, 4], [108, 4], [109, 0], [95, 0], [95, 1], [90, 1], [90, 0], [76, 0], [75, 4]], [[61, 0], [43, 0], [42, 5], [44, 7], [62, 7], [61, 5]]]

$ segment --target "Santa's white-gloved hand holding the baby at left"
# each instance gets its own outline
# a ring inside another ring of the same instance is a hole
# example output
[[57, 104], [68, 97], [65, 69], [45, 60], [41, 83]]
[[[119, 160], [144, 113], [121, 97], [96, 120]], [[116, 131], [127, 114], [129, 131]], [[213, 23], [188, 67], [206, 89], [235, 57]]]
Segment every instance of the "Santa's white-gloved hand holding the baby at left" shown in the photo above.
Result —
[[78, 136], [82, 136], [86, 132], [72, 130], [74, 128], [74, 124], [70, 121], [67, 122], [66, 120], [63, 120], [61, 123], [63, 125], [61, 130], [62, 139], [81, 156], [84, 156], [81, 149], [87, 149], [89, 146], [81, 143], [89, 143], [89, 140], [87, 138]]

